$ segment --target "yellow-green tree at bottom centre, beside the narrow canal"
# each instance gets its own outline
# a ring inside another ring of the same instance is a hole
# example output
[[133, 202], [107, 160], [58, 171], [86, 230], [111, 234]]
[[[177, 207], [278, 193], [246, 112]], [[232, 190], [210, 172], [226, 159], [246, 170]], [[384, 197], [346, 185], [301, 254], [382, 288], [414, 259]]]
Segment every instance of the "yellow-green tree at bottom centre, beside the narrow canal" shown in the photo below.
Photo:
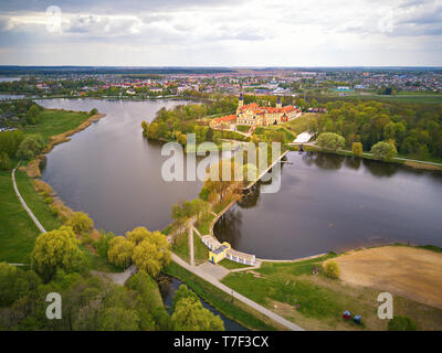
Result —
[[182, 298], [176, 306], [171, 323], [177, 331], [224, 331], [221, 318], [202, 307], [198, 299]]

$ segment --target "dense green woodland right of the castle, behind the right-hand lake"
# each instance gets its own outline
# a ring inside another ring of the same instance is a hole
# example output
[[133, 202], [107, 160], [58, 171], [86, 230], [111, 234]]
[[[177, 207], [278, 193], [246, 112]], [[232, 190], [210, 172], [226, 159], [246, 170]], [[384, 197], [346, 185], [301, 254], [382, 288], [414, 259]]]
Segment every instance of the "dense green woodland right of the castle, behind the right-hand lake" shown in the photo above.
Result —
[[390, 141], [412, 158], [442, 158], [442, 105], [337, 100], [325, 106], [328, 113], [318, 115], [311, 130], [336, 132], [348, 149], [360, 142], [370, 151]]

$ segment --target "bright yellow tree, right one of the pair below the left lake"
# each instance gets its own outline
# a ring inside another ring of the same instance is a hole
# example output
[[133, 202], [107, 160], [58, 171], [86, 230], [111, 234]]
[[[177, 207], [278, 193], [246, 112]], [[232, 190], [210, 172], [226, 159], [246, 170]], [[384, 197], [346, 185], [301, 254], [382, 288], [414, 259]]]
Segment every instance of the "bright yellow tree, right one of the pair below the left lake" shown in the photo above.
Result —
[[167, 237], [158, 231], [150, 233], [139, 243], [134, 250], [135, 266], [145, 270], [152, 277], [157, 277], [164, 266], [171, 260], [170, 244]]

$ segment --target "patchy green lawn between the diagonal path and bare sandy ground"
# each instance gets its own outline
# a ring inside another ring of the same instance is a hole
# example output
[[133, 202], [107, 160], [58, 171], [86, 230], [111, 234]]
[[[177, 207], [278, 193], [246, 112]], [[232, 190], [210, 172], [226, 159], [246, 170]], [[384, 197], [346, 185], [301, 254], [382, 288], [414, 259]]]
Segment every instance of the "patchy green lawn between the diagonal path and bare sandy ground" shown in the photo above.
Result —
[[[231, 272], [222, 282], [307, 330], [386, 330], [387, 320], [377, 317], [379, 290], [343, 285], [324, 275], [323, 263], [333, 256], [263, 263], [253, 271]], [[313, 275], [315, 266], [318, 275]], [[360, 314], [362, 324], [344, 320], [345, 310]], [[422, 330], [440, 329], [441, 313], [442, 310], [394, 296], [394, 314], [413, 319]]]

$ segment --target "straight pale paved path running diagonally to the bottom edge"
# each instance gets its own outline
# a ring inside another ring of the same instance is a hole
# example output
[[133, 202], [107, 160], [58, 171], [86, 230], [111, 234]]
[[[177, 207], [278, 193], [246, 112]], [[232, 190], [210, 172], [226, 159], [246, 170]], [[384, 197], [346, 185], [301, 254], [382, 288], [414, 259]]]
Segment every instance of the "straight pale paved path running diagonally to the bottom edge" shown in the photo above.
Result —
[[182, 260], [177, 255], [172, 254], [172, 260], [177, 263], [179, 266], [186, 268], [188, 271], [197, 275], [198, 277], [202, 278], [203, 280], [208, 281], [209, 284], [215, 286], [217, 288], [221, 289], [222, 291], [227, 292], [229, 296], [233, 296], [233, 298], [242, 301], [246, 306], [257, 310], [262, 314], [269, 317], [270, 319], [274, 320], [275, 322], [280, 323], [281, 325], [287, 328], [292, 331], [304, 331], [304, 329], [299, 328], [297, 324], [280, 317], [278, 314], [274, 313], [273, 311], [260, 306], [259, 303], [254, 302], [253, 300], [240, 295], [239, 292], [232, 290], [228, 286], [224, 286], [219, 280], [213, 278], [212, 276], [208, 275], [203, 269], [199, 268], [198, 266], [191, 266]]

